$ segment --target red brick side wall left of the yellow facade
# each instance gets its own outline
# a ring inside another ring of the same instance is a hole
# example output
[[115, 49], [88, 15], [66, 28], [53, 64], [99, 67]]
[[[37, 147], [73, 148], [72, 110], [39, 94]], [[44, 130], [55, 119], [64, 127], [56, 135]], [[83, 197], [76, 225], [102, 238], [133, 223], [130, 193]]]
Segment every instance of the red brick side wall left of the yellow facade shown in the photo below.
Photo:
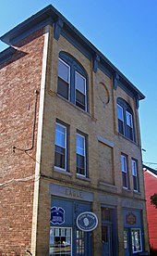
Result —
[[0, 66], [0, 255], [5, 256], [30, 250], [39, 94], [34, 147], [26, 154], [13, 152], [12, 146], [31, 147], [34, 92], [40, 92], [41, 85], [42, 30], [16, 46], [17, 53]]

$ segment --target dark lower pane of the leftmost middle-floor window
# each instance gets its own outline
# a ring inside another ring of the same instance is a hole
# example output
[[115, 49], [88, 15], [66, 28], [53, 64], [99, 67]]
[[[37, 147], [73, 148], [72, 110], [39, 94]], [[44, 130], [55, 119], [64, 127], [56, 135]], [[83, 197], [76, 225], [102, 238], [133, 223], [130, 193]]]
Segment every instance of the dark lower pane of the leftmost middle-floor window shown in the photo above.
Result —
[[55, 146], [54, 165], [56, 167], [65, 169], [65, 148]]

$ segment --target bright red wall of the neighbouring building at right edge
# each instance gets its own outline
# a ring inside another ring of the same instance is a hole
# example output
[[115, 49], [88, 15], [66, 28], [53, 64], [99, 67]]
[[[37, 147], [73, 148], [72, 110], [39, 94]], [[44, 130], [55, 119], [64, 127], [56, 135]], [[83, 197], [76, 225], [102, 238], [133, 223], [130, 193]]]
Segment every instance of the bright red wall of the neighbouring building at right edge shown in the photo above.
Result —
[[157, 178], [150, 173], [144, 173], [144, 182], [146, 190], [146, 206], [149, 224], [150, 245], [153, 250], [157, 250], [157, 209], [151, 205], [150, 197], [157, 193]]

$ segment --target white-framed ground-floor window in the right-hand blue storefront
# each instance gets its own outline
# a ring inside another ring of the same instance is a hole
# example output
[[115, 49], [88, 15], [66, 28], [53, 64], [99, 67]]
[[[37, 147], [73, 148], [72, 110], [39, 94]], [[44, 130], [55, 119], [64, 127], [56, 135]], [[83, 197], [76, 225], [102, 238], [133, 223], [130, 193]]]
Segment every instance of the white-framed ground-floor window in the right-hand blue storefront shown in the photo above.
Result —
[[140, 228], [131, 228], [132, 251], [137, 253], [142, 250]]

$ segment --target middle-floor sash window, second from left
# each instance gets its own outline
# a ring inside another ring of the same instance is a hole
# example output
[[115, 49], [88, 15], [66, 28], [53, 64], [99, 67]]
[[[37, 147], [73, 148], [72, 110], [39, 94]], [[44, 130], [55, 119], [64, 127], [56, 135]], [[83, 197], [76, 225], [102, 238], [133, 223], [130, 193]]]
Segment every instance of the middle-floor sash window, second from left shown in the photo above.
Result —
[[86, 137], [76, 134], [77, 173], [86, 176]]

